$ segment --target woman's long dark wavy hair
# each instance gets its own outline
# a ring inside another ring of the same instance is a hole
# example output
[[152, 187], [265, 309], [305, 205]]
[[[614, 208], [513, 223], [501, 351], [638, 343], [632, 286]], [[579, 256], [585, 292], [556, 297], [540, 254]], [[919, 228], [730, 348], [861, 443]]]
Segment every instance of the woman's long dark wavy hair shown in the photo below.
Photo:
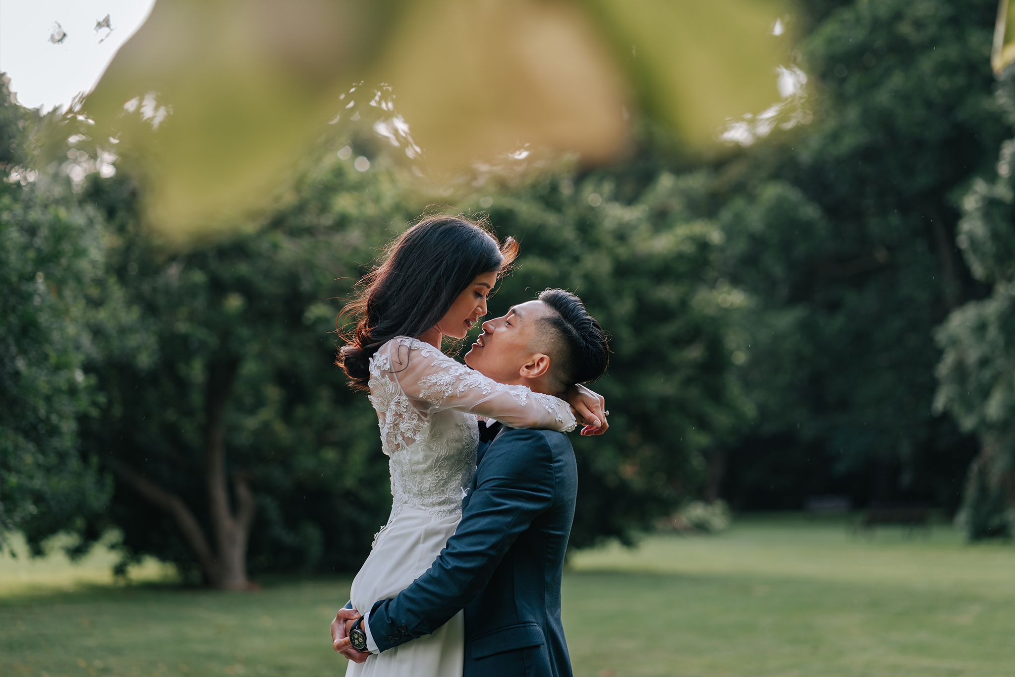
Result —
[[342, 310], [355, 329], [339, 332], [345, 342], [335, 363], [350, 385], [368, 390], [369, 358], [396, 336], [421, 336], [445, 316], [477, 275], [501, 273], [518, 255], [518, 243], [497, 243], [482, 221], [429, 216], [385, 249], [383, 263], [357, 283], [358, 293]]

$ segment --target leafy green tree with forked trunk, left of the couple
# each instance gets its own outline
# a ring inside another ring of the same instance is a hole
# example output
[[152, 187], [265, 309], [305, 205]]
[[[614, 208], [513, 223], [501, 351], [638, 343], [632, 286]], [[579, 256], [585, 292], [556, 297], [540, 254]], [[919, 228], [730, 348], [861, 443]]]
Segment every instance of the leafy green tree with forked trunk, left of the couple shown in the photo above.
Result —
[[144, 230], [130, 180], [91, 185], [110, 271], [156, 345], [139, 359], [106, 337], [88, 365], [106, 401], [83, 444], [117, 477], [105, 524], [124, 533], [124, 563], [154, 554], [243, 589], [248, 562], [311, 570], [365, 555], [390, 498], [367, 458], [376, 417], [332, 363], [334, 299], [387, 239], [395, 191], [343, 167], [312, 171], [298, 200], [246, 234], [189, 251]]

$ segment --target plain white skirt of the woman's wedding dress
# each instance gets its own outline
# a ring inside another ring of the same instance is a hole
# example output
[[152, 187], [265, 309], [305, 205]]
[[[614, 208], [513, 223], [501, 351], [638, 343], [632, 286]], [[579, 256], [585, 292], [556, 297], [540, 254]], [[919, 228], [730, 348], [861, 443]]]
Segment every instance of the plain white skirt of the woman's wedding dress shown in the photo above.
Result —
[[[461, 513], [434, 515], [403, 505], [378, 535], [352, 582], [352, 606], [366, 613], [425, 572], [455, 533]], [[412, 639], [364, 663], [349, 662], [346, 677], [462, 677], [465, 615], [459, 611], [432, 634]]]

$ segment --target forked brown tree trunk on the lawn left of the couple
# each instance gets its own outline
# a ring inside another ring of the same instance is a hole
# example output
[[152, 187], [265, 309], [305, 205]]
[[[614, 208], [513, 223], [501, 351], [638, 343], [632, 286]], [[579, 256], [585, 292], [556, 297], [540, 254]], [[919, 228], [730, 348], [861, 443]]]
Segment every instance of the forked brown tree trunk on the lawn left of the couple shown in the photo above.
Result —
[[208, 585], [219, 590], [246, 590], [247, 541], [257, 501], [250, 488], [250, 477], [238, 472], [232, 475], [232, 495], [235, 510], [229, 506], [229, 486], [225, 474], [224, 414], [240, 367], [239, 359], [215, 363], [209, 368], [205, 401], [205, 486], [208, 491], [208, 512], [212, 528], [209, 544], [204, 530], [187, 503], [132, 468], [120, 464], [117, 474], [142, 496], [173, 517], [201, 565]]

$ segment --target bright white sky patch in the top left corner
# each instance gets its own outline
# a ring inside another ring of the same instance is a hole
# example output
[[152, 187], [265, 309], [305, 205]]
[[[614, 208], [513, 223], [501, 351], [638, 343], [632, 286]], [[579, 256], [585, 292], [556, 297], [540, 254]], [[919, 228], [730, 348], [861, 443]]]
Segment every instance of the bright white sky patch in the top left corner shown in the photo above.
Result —
[[[154, 2], [0, 0], [0, 71], [10, 76], [10, 87], [22, 106], [47, 111], [67, 106], [75, 94], [95, 86]], [[107, 14], [112, 32], [96, 31], [95, 24]], [[66, 33], [59, 44], [51, 42], [51, 37], [60, 38], [56, 22]]]

